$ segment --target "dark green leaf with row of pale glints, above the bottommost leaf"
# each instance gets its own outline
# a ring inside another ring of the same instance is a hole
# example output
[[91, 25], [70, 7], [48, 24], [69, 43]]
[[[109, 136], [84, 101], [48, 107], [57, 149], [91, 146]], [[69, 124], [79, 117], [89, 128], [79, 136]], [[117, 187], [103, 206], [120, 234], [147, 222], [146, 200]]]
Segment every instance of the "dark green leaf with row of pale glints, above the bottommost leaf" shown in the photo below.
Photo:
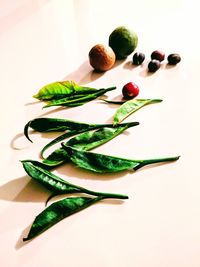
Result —
[[106, 198], [127, 199], [128, 196], [113, 193], [102, 193], [88, 190], [84, 187], [68, 183], [67, 181], [56, 176], [52, 172], [47, 171], [42, 167], [42, 164], [33, 160], [21, 161], [26, 173], [45, 188], [50, 190], [55, 195], [71, 194], [71, 193], [86, 193], [93, 196], [104, 196]]

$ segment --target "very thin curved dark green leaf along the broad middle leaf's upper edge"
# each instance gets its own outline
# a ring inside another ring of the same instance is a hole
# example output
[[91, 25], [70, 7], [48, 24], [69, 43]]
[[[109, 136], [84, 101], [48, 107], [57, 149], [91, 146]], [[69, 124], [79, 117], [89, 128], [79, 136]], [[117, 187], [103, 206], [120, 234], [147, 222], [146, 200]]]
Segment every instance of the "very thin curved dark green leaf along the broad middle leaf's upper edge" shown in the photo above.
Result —
[[[138, 125], [139, 123], [138, 122], [130, 122], [130, 123], [125, 123], [125, 124], [120, 124], [119, 126], [121, 127], [132, 127], [132, 126], [136, 126]], [[44, 152], [51, 146], [71, 137], [71, 136], [74, 136], [76, 134], [80, 134], [80, 133], [83, 133], [83, 132], [86, 132], [88, 130], [95, 130], [95, 129], [101, 129], [101, 128], [104, 128], [104, 127], [107, 127], [107, 128], [113, 128], [113, 124], [88, 124], [88, 125], [84, 125], [83, 128], [79, 127], [80, 129], [74, 129], [74, 130], [71, 130], [69, 132], [66, 132], [60, 136], [58, 136], [57, 138], [53, 139], [51, 142], [49, 142], [48, 144], [46, 144], [43, 149], [41, 150], [41, 157], [44, 158]], [[116, 126], [118, 127], [118, 126]], [[90, 142], [90, 141], [88, 141]]]

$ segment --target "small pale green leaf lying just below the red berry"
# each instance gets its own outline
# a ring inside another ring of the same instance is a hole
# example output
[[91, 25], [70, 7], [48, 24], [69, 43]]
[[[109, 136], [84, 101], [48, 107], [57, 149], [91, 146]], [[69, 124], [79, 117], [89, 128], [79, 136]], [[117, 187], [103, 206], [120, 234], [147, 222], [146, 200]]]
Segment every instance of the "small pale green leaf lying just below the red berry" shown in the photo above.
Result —
[[125, 118], [130, 116], [138, 109], [152, 103], [159, 103], [161, 99], [133, 99], [123, 103], [113, 116], [113, 125], [121, 123]]

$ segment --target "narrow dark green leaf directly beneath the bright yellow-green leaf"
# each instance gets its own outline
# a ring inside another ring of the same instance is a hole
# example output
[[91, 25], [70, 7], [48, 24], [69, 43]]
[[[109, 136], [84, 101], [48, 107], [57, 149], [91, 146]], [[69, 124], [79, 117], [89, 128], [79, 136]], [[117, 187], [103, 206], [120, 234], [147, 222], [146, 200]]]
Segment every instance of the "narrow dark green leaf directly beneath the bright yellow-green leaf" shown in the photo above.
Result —
[[48, 108], [48, 107], [52, 107], [52, 106], [80, 106], [83, 105], [89, 101], [92, 101], [94, 99], [96, 99], [97, 97], [105, 94], [108, 91], [114, 90], [116, 89], [116, 87], [110, 87], [107, 89], [98, 89], [96, 90], [96, 92], [94, 93], [89, 93], [86, 94], [85, 96], [76, 98], [76, 99], [68, 99], [68, 98], [61, 98], [61, 99], [56, 99], [56, 100], [52, 100], [50, 101], [47, 105], [45, 105], [43, 108]]

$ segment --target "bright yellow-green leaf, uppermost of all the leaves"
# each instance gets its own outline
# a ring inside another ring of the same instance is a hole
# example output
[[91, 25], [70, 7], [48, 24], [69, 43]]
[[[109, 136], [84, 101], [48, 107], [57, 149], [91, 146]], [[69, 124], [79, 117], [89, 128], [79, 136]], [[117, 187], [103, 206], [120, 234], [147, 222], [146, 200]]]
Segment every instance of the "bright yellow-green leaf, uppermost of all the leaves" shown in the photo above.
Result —
[[63, 81], [45, 85], [33, 97], [39, 100], [50, 100], [59, 99], [74, 94], [88, 94], [95, 91], [95, 88], [79, 86], [73, 81]]

